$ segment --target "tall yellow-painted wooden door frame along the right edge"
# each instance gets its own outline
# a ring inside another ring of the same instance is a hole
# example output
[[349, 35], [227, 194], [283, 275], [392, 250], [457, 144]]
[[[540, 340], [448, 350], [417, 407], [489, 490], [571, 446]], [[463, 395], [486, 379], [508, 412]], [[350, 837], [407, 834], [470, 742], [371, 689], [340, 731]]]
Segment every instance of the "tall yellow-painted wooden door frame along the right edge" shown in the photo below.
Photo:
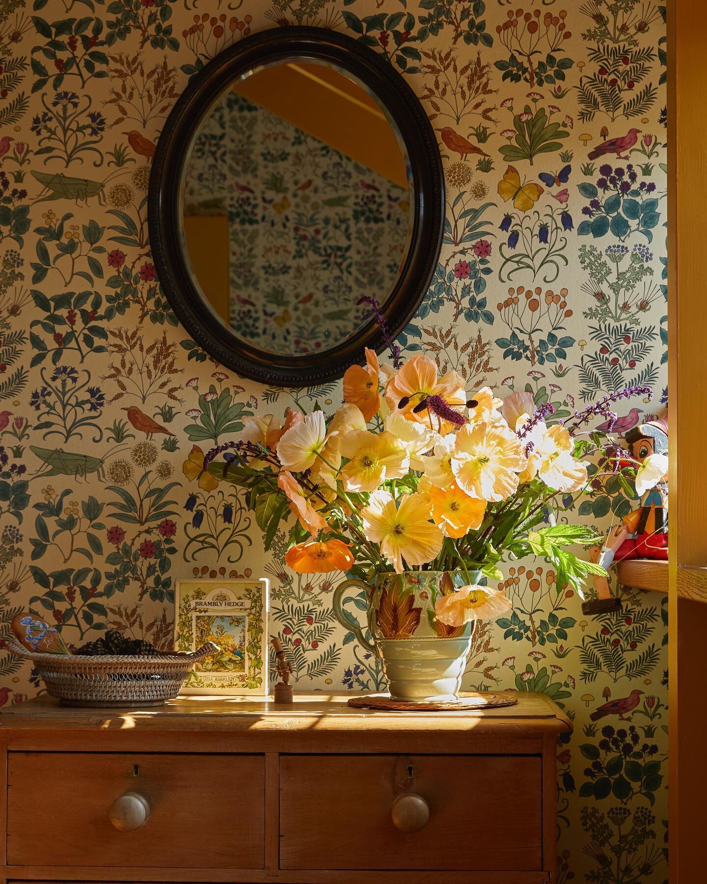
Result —
[[668, 7], [669, 880], [705, 880], [707, 701], [707, 27], [704, 0]]

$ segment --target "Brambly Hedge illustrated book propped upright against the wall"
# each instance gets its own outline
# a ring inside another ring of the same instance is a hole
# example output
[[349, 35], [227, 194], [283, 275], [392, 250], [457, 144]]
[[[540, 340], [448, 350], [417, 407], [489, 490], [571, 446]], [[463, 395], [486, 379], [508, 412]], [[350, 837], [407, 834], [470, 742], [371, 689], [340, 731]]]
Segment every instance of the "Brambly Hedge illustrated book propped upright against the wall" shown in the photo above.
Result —
[[267, 580], [178, 581], [177, 610], [178, 651], [221, 649], [196, 664], [183, 693], [267, 694]]

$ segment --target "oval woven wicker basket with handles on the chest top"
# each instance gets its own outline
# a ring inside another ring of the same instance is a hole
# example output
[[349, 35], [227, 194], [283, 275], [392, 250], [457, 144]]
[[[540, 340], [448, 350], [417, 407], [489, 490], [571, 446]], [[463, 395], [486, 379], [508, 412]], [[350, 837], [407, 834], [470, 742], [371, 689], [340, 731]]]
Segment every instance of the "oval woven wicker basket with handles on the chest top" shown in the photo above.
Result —
[[9, 649], [32, 660], [47, 692], [67, 706], [158, 706], [179, 695], [194, 663], [217, 652], [207, 642], [189, 653], [156, 653], [150, 657], [69, 657], [28, 651], [12, 641]]

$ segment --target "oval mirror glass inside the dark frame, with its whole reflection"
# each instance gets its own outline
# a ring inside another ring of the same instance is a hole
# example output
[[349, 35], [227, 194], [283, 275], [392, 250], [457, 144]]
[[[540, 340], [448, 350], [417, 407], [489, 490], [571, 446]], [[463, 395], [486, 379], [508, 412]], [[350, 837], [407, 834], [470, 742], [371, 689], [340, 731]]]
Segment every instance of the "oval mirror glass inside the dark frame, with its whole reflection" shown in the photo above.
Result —
[[240, 339], [335, 348], [383, 305], [410, 235], [399, 137], [368, 91], [308, 61], [262, 67], [204, 118], [184, 180], [195, 282]]

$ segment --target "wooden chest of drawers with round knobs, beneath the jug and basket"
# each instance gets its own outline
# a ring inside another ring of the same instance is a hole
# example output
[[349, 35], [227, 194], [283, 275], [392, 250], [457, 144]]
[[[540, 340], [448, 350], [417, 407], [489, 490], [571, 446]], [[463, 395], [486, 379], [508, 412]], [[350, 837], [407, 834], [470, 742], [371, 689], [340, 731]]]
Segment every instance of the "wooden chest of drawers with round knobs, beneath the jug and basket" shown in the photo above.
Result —
[[188, 697], [0, 716], [0, 884], [550, 884], [559, 733], [478, 713]]

